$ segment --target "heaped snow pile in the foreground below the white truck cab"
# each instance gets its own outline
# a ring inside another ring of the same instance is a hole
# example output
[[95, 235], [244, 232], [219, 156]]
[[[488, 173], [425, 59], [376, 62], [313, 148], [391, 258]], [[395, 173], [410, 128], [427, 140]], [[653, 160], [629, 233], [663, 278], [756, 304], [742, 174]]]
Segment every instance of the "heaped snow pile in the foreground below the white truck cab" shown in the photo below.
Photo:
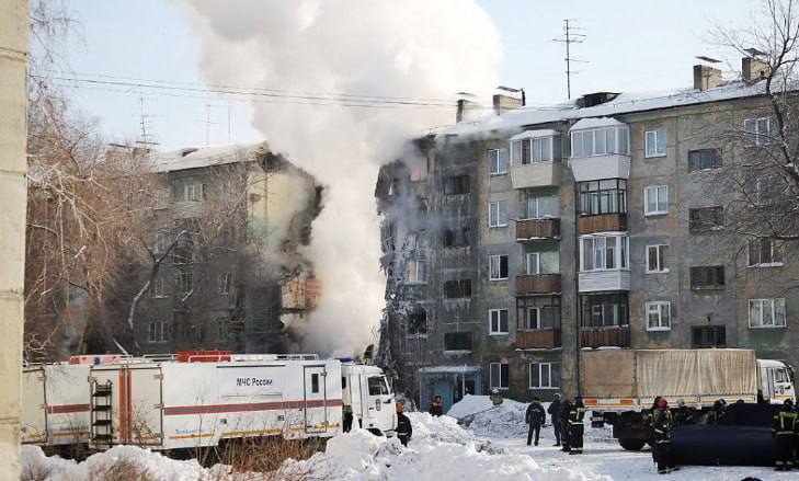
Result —
[[327, 450], [305, 461], [287, 461], [282, 473], [307, 479], [346, 480], [606, 480], [608, 477], [544, 467], [525, 455], [510, 455], [457, 425], [454, 417], [408, 413], [413, 437], [407, 448], [397, 438], [354, 431], [328, 442]]

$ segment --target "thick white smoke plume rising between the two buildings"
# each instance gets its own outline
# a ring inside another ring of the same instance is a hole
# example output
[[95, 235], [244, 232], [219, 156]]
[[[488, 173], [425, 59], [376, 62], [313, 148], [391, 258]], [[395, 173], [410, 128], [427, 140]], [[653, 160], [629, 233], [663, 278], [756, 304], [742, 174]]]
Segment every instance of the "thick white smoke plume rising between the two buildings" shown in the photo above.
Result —
[[385, 306], [377, 171], [408, 139], [452, 124], [457, 92], [490, 95], [502, 57], [490, 16], [473, 0], [184, 1], [209, 84], [450, 100], [390, 108], [252, 102], [252, 124], [273, 150], [327, 187], [309, 252], [323, 294], [300, 327], [303, 347], [362, 352]]

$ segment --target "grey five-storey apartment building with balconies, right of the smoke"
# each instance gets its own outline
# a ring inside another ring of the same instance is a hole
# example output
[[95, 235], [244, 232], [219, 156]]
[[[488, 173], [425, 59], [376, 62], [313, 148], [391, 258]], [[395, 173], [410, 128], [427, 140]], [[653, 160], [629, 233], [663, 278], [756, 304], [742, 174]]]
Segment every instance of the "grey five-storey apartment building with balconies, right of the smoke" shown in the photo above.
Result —
[[744, 58], [722, 81], [698, 65], [693, 88], [551, 108], [504, 89], [493, 115], [461, 100], [456, 124], [385, 165], [381, 347], [398, 389], [423, 409], [493, 389], [574, 396], [594, 348], [745, 347], [798, 365], [790, 243], [729, 226], [730, 185], [766, 190], [765, 173], [732, 182], [774, 137], [765, 69]]

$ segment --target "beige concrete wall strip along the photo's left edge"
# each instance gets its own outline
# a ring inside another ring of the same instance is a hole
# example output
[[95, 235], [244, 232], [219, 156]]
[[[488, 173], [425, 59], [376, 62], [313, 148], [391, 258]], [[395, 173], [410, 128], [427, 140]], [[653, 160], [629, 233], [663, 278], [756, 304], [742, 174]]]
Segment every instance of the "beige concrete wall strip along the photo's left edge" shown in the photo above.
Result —
[[27, 1], [0, 0], [0, 459], [20, 477], [25, 265]]

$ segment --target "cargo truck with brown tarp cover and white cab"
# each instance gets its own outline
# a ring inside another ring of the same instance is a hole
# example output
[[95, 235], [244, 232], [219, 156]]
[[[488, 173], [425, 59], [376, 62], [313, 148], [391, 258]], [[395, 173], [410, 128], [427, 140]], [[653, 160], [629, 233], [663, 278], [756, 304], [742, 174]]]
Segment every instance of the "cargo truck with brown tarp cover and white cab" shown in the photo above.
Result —
[[625, 449], [649, 440], [643, 412], [658, 396], [701, 411], [719, 399], [756, 402], [758, 390], [771, 402], [795, 399], [790, 368], [750, 350], [601, 350], [580, 357], [580, 394], [592, 425], [613, 425]]

